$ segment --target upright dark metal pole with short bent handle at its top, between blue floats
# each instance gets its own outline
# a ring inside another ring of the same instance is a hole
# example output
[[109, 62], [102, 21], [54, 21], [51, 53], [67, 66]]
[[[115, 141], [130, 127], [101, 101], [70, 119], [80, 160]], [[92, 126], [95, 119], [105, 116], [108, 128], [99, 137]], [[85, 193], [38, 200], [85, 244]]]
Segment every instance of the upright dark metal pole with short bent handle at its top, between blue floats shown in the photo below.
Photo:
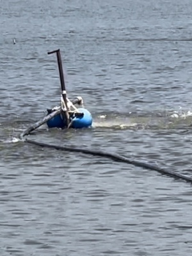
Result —
[[66, 111], [64, 111], [65, 114], [65, 121], [68, 127], [68, 124], [70, 122], [69, 120], [69, 115], [68, 115], [68, 106], [67, 106], [67, 92], [65, 89], [65, 81], [64, 81], [64, 76], [63, 76], [63, 66], [62, 66], [62, 61], [61, 61], [61, 53], [60, 53], [60, 49], [56, 50], [56, 51], [52, 51], [52, 52], [47, 52], [48, 54], [52, 54], [55, 53], [57, 54], [57, 60], [58, 60], [58, 68], [59, 68], [59, 72], [60, 72], [60, 83], [61, 83], [61, 92], [62, 92], [62, 97], [63, 97], [63, 101], [65, 103], [65, 108]]

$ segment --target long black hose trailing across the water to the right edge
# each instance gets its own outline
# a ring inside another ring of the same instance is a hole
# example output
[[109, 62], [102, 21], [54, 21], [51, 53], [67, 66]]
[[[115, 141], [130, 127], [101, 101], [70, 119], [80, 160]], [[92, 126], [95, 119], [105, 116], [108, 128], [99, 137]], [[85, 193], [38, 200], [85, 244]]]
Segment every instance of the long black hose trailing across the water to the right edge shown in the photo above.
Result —
[[186, 182], [189, 182], [192, 184], [192, 178], [190, 178], [186, 175], [182, 175], [180, 173], [176, 173], [171, 170], [164, 170], [163, 168], [160, 168], [153, 164], [141, 163], [139, 161], [134, 161], [134, 160], [128, 159], [127, 157], [119, 156], [118, 154], [111, 154], [111, 153], [102, 152], [99, 150], [90, 150], [90, 149], [83, 149], [83, 148], [76, 148], [76, 147], [61, 147], [61, 146], [57, 146], [57, 145], [51, 145], [51, 144], [37, 142], [37, 141], [33, 141], [33, 140], [28, 140], [28, 139], [26, 139], [25, 141], [27, 143], [30, 143], [33, 145], [38, 145], [40, 147], [54, 148], [56, 150], [63, 150], [63, 151], [70, 151], [70, 152], [81, 152], [81, 153], [90, 154], [93, 156], [108, 157], [109, 159], [113, 159], [114, 161], [123, 162], [123, 163], [127, 163], [127, 164], [133, 164], [134, 166], [139, 166], [141, 168], [147, 168], [148, 170], [154, 170], [163, 175], [168, 175], [175, 179], [185, 180]]

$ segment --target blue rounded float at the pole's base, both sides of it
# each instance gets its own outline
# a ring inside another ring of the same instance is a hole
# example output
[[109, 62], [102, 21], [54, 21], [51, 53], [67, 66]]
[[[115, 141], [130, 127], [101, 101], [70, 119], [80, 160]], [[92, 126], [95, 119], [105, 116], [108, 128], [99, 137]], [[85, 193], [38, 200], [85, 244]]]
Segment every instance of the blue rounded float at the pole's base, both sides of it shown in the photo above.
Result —
[[[74, 129], [81, 129], [81, 128], [87, 128], [92, 126], [93, 118], [92, 114], [84, 108], [78, 109], [80, 113], [83, 113], [83, 115], [72, 115], [70, 116], [70, 122], [72, 121], [70, 127]], [[63, 116], [56, 115], [51, 120], [47, 121], [47, 126], [49, 128], [57, 127], [57, 128], [64, 128], [66, 127], [66, 122]]]

